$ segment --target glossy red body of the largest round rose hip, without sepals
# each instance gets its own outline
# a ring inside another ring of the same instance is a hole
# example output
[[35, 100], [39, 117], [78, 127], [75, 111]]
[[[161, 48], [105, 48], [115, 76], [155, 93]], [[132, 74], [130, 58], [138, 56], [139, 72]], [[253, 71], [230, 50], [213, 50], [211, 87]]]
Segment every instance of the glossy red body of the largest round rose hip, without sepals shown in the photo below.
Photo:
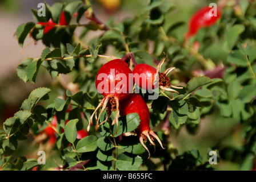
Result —
[[[113, 73], [111, 74], [111, 69], [114, 69], [115, 71], [115, 77], [113, 77]], [[101, 73], [105, 73], [107, 75], [107, 78], [102, 80], [98, 80], [98, 76]], [[115, 86], [118, 84], [118, 82], [122, 81], [122, 78], [118, 76], [119, 73], [125, 74], [127, 81], [123, 82], [122, 86], [125, 86], [126, 93], [122, 93], [121, 90], [115, 89], [114, 93], [110, 93], [110, 85], [111, 82], [115, 82]], [[130, 86], [133, 86], [133, 79], [129, 79], [129, 74], [132, 74], [130, 68], [128, 67], [127, 63], [121, 59], [115, 59], [111, 60], [108, 63], [102, 65], [102, 67], [99, 69], [97, 76], [96, 76], [96, 81], [95, 81], [95, 86], [98, 89], [98, 92], [101, 93], [103, 96], [115, 96], [117, 97], [120, 101], [126, 99], [127, 97], [130, 96], [129, 93], [129, 82]], [[109, 89], [103, 90], [104, 85], [102, 85], [101, 88], [98, 88], [98, 85], [102, 82], [105, 81], [106, 84], [109, 84]], [[120, 93], [121, 92], [121, 93]]]

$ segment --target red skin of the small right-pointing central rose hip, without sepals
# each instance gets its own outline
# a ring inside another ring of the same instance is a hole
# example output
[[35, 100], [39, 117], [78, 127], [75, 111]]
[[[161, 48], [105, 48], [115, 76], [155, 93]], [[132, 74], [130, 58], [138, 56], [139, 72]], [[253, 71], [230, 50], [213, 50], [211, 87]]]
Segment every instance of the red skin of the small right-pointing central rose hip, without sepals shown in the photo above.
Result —
[[[134, 78], [135, 84], [137, 84], [140, 88], [144, 90], [153, 90], [154, 87], [154, 76], [155, 73], [157, 73], [157, 69], [154, 67], [151, 67], [148, 64], [138, 64], [134, 69], [133, 69], [133, 74], [138, 73], [138, 75], [145, 74], [145, 76], [139, 77], [138, 79]], [[142, 84], [143, 83], [143, 84]], [[151, 85], [151, 86], [147, 86]], [[151, 88], [150, 88], [151, 87]]]

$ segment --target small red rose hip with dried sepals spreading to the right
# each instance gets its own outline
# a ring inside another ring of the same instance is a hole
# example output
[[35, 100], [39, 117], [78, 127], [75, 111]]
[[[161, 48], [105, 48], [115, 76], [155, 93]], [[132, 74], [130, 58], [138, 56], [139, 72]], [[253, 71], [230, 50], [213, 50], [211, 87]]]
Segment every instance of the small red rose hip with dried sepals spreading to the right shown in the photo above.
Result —
[[154, 90], [158, 86], [160, 89], [169, 92], [177, 92], [177, 90], [171, 88], [182, 89], [182, 87], [171, 85], [170, 78], [167, 76], [171, 71], [175, 69], [175, 67], [168, 68], [165, 72], [161, 73], [161, 67], [165, 62], [165, 58], [166, 55], [158, 64], [157, 69], [151, 67], [148, 64], [138, 64], [137, 66], [135, 66], [135, 68], [133, 69], [135, 84], [145, 90]]

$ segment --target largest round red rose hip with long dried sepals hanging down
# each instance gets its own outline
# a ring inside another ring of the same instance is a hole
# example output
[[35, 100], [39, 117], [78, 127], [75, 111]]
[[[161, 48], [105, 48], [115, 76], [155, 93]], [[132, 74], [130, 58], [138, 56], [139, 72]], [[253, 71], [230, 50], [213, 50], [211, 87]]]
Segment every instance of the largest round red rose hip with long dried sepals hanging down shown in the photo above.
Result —
[[[98, 92], [104, 96], [104, 98], [91, 115], [87, 131], [89, 131], [90, 126], [93, 125], [94, 115], [97, 121], [97, 130], [98, 127], [102, 125], [102, 123], [105, 123], [109, 119], [111, 112], [115, 110], [116, 115], [112, 122], [112, 125], [117, 123], [118, 128], [118, 115], [120, 110], [119, 101], [125, 100], [127, 97], [130, 96], [134, 85], [133, 78], [129, 78], [129, 75], [132, 75], [132, 72], [128, 67], [127, 63], [125, 63], [125, 61], [121, 59], [111, 60], [108, 63], [102, 65], [97, 73], [95, 86]], [[101, 112], [97, 117], [97, 111], [101, 107]], [[99, 125], [98, 118], [101, 116], [105, 109], [108, 113], [108, 117]]]

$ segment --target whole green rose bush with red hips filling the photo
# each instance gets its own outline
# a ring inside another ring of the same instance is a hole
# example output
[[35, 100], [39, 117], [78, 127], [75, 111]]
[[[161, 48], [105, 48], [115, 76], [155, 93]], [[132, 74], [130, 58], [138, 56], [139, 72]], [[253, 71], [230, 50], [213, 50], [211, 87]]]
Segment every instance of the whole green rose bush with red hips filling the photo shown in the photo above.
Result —
[[[213, 20], [202, 13], [207, 4], [182, 11], [178, 2], [139, 2], [131, 5], [143, 7], [138, 13], [118, 20], [111, 10], [106, 22], [88, 0], [45, 3], [46, 16], [31, 9], [34, 22], [20, 24], [15, 38], [21, 47], [33, 39], [45, 49], [22, 60], [17, 75], [35, 83], [46, 72], [53, 84], [34, 89], [3, 122], [1, 170], [255, 168], [256, 2], [218, 1], [207, 8], [220, 11]], [[129, 7], [119, 3], [114, 12]], [[100, 35], [88, 36], [94, 31]], [[133, 82], [134, 69], [158, 73], [141, 77], [151, 89]], [[109, 79], [101, 89], [113, 83], [114, 90], [99, 93], [99, 70]], [[129, 81], [131, 93], [118, 93]], [[37, 162], [39, 150], [46, 164]]]

